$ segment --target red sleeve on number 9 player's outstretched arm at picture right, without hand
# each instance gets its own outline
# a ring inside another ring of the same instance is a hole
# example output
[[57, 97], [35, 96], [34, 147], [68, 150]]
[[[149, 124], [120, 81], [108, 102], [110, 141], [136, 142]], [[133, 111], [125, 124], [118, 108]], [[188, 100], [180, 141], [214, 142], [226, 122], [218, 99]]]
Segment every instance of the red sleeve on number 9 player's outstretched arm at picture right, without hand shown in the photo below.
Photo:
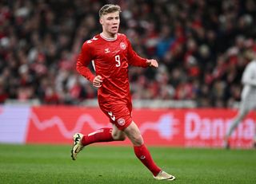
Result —
[[126, 42], [127, 42], [127, 59], [128, 59], [129, 65], [146, 68], [148, 66], [148, 64], [146, 63], [146, 59], [139, 57], [138, 54], [135, 53], [127, 37], [126, 37]]

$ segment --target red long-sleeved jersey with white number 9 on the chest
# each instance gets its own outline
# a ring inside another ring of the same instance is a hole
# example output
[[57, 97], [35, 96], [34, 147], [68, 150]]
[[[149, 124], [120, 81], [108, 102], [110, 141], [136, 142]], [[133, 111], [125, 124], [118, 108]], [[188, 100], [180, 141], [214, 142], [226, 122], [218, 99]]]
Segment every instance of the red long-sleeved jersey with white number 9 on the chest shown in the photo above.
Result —
[[130, 100], [128, 65], [147, 67], [146, 59], [134, 52], [126, 35], [118, 33], [116, 39], [101, 34], [84, 42], [77, 61], [77, 70], [93, 82], [94, 74], [88, 68], [93, 61], [96, 75], [102, 76], [98, 88], [98, 101]]

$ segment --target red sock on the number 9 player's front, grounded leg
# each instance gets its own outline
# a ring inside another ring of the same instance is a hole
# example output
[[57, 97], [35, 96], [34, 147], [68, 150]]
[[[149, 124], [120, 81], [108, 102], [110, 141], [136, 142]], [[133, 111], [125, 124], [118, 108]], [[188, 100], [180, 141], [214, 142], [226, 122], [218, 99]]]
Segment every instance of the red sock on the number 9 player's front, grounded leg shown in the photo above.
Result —
[[148, 151], [144, 144], [139, 147], [134, 147], [134, 153], [154, 176], [158, 175], [161, 169], [154, 163], [154, 160], [150, 155], [150, 151]]

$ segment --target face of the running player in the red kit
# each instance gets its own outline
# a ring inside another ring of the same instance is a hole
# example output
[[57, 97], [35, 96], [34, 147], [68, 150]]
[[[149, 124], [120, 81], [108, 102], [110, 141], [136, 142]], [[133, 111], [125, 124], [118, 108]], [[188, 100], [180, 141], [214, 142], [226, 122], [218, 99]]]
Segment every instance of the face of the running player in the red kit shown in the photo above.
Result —
[[110, 36], [114, 36], [118, 33], [120, 18], [119, 12], [114, 12], [110, 14], [105, 14], [100, 18], [100, 23], [102, 24], [103, 32]]

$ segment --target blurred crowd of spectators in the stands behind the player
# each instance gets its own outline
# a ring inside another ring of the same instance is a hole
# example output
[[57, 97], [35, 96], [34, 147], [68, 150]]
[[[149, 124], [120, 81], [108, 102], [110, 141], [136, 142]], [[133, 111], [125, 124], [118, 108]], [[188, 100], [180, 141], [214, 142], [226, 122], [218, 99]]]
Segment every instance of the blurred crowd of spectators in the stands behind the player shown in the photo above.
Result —
[[0, 103], [80, 104], [96, 88], [75, 70], [82, 43], [102, 30], [98, 10], [122, 8], [120, 33], [159, 69], [130, 67], [133, 99], [230, 107], [256, 52], [254, 0], [2, 0]]

